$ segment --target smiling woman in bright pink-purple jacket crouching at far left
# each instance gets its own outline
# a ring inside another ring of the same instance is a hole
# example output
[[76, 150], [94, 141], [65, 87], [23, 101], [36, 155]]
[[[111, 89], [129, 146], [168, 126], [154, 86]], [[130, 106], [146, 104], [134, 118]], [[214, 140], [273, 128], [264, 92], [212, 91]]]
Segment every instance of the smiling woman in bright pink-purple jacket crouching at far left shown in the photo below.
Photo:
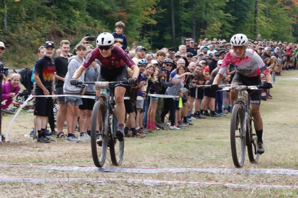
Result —
[[19, 74], [11, 74], [7, 82], [2, 83], [2, 101], [7, 100], [2, 109], [6, 109], [11, 104], [12, 98], [20, 91], [20, 80]]

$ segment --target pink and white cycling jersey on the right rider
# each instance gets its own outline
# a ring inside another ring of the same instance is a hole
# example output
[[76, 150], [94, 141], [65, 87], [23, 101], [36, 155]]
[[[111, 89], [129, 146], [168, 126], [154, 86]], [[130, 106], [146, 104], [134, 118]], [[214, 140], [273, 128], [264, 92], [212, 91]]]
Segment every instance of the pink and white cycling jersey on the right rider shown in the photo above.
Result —
[[237, 58], [233, 50], [225, 55], [219, 73], [225, 74], [228, 65], [231, 63], [236, 70], [244, 76], [258, 76], [260, 73], [269, 73], [262, 58], [252, 49], [246, 49], [245, 58]]

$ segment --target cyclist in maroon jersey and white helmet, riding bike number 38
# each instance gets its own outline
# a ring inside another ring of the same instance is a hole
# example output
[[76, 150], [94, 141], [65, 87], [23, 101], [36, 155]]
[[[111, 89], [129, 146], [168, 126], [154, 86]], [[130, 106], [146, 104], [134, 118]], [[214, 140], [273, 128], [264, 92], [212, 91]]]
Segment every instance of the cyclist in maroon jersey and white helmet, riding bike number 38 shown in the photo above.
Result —
[[[134, 84], [137, 81], [140, 70], [133, 60], [123, 51], [123, 49], [114, 45], [114, 42], [115, 39], [111, 33], [101, 33], [96, 40], [98, 47], [93, 49], [83, 64], [75, 71], [73, 78], [70, 80], [70, 84], [77, 85], [77, 79], [95, 59], [98, 59], [102, 63], [97, 81], [128, 80], [129, 84]], [[128, 78], [127, 66], [133, 70], [132, 78]], [[116, 136], [119, 141], [123, 141], [124, 139], [124, 94], [127, 87], [128, 85], [126, 84], [118, 84], [115, 86], [115, 102], [119, 128], [116, 131]], [[99, 94], [100, 91], [96, 91], [96, 95]]]

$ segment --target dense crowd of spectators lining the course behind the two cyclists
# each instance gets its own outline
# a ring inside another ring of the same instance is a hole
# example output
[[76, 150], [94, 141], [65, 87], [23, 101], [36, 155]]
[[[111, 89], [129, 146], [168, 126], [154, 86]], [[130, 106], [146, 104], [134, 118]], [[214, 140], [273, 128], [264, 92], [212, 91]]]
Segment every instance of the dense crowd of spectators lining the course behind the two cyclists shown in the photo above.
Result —
[[[205, 38], [197, 43], [192, 38], [186, 39], [185, 45], [180, 45], [177, 51], [173, 48], [162, 48], [149, 52], [144, 46], [136, 43], [130, 49], [123, 34], [125, 24], [115, 24], [115, 44], [129, 54], [140, 69], [137, 84], [137, 99], [125, 99], [126, 121], [124, 134], [126, 137], [145, 137], [152, 130], [180, 130], [195, 125], [193, 120], [218, 119], [231, 113], [229, 92], [216, 92], [209, 88], [217, 75], [224, 56], [232, 50], [231, 44], [224, 39]], [[55, 44], [47, 41], [38, 49], [38, 61], [32, 72], [32, 82], [35, 82], [34, 94], [38, 95], [84, 95], [95, 97], [94, 87], [86, 89], [70, 85], [69, 81], [84, 62], [85, 58], [94, 49], [88, 43], [88, 36], [84, 37], [70, 53], [70, 42], [62, 40], [56, 49], [56, 58], [52, 59]], [[258, 35], [255, 40], [249, 39], [248, 48], [255, 50], [264, 60], [273, 82], [278, 83], [278, 76], [287, 70], [296, 70], [297, 44], [262, 40]], [[0, 42], [0, 57], [5, 50], [4, 43]], [[0, 58], [1, 71], [3, 70]], [[101, 63], [94, 61], [79, 81], [96, 81], [100, 73]], [[131, 74], [127, 68], [128, 74]], [[220, 84], [231, 84], [236, 72], [230, 64]], [[2, 71], [4, 73], [4, 71]], [[1, 78], [6, 79], [1, 73]], [[264, 79], [264, 76], [261, 76]], [[2, 101], [7, 108], [12, 98], [20, 90], [18, 74], [11, 74], [6, 82], [2, 82]], [[130, 90], [127, 90], [127, 95]], [[160, 97], [163, 95], [163, 97]], [[272, 99], [265, 90], [264, 100]], [[57, 132], [54, 127], [53, 99], [59, 104], [57, 113]], [[34, 127], [38, 131], [38, 142], [50, 143], [47, 134], [65, 138], [66, 142], [90, 140], [90, 121], [94, 99], [75, 96], [65, 97], [36, 97], [34, 110]], [[207, 118], [209, 119], [209, 118]], [[67, 124], [67, 134], [64, 133], [64, 124]], [[46, 133], [47, 123], [52, 132]], [[79, 128], [79, 137], [75, 136]], [[3, 137], [2, 137], [3, 138]]]

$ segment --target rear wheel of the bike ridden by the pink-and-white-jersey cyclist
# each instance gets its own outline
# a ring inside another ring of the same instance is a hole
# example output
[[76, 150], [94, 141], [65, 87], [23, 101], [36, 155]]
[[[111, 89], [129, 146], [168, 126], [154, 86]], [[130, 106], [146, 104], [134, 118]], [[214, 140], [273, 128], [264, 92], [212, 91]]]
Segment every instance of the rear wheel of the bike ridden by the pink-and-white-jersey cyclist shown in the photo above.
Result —
[[247, 154], [251, 163], [258, 163], [260, 154], [256, 153], [257, 136], [255, 135], [254, 120], [250, 119], [250, 144], [247, 145]]

